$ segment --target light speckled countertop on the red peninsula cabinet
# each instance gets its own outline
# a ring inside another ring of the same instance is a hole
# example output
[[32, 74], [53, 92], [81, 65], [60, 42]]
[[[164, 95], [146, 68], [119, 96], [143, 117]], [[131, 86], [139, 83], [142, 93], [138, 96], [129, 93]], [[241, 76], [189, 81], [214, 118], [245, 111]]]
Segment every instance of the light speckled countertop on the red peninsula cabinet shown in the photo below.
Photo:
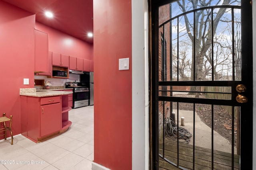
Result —
[[21, 96], [32, 96], [32, 97], [46, 97], [46, 96], [60, 96], [72, 94], [73, 92], [65, 92], [60, 90], [70, 90], [70, 89], [50, 89], [50, 90], [39, 90], [36, 88], [20, 88]]

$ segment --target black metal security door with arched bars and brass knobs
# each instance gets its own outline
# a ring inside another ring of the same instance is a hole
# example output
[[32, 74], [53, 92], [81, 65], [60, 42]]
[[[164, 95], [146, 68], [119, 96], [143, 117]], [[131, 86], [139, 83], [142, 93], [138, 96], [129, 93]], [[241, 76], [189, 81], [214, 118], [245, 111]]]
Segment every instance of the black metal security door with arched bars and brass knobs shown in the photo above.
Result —
[[252, 169], [250, 0], [152, 0], [152, 169]]

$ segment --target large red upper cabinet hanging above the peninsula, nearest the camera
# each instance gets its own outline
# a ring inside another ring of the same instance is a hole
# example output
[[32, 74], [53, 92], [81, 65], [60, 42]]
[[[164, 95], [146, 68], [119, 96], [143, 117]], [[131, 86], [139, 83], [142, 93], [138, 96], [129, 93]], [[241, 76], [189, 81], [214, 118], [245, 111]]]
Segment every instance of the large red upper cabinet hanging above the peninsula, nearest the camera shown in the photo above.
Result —
[[34, 72], [48, 72], [48, 34], [34, 29], [35, 68]]

